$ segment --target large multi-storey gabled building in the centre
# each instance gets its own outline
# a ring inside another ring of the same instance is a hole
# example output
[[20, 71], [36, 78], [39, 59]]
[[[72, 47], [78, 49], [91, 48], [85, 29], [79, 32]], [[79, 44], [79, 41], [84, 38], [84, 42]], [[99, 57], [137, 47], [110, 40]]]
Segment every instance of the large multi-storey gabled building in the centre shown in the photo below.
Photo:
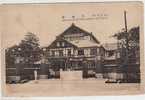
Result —
[[72, 24], [47, 48], [47, 59], [55, 71], [82, 70], [84, 77], [88, 77], [89, 72], [102, 77], [101, 59], [104, 53], [101, 49], [100, 42], [91, 32]]

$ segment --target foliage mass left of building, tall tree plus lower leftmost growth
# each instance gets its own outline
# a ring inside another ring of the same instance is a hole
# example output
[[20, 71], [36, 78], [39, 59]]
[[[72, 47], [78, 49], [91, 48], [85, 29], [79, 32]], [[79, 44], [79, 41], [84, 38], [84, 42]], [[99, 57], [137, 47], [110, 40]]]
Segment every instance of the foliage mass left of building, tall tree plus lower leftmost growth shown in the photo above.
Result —
[[6, 56], [8, 58], [7, 62], [9, 63], [12, 63], [12, 61], [10, 61], [11, 58], [9, 58], [12, 57], [14, 61], [18, 59], [21, 60], [21, 63], [34, 64], [41, 58], [38, 37], [35, 34], [28, 32], [19, 45], [7, 49]]

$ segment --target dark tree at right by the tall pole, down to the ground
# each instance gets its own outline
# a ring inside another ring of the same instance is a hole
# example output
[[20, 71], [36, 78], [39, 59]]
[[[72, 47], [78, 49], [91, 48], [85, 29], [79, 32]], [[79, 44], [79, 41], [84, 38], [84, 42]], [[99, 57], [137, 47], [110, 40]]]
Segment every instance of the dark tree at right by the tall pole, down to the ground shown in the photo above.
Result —
[[113, 35], [119, 41], [120, 66], [127, 82], [140, 82], [139, 26]]

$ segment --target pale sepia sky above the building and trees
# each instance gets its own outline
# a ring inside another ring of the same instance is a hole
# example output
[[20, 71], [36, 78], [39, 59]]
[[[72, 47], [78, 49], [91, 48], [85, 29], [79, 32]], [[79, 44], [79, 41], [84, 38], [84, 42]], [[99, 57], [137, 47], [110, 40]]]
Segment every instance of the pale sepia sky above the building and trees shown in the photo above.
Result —
[[[116, 42], [111, 36], [124, 28], [124, 11], [130, 29], [142, 24], [142, 7], [140, 2], [2, 5], [2, 45], [7, 48], [18, 44], [27, 32], [32, 32], [39, 37], [40, 46], [48, 46], [72, 23], [92, 32], [101, 44]], [[106, 15], [105, 19], [62, 21], [62, 16], [92, 18], [101, 14]]]

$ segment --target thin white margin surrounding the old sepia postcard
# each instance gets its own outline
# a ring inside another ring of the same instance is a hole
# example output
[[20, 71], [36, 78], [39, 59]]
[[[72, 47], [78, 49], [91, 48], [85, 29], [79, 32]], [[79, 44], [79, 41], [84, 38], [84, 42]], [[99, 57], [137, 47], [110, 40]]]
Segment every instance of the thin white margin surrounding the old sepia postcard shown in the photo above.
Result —
[[[119, 0], [0, 0], [0, 4], [16, 4], [16, 3], [56, 3], [56, 2], [112, 2]], [[144, 0], [121, 0], [121, 1], [142, 1]], [[144, 9], [145, 16], [145, 9]], [[145, 29], [145, 25], [144, 25]], [[144, 35], [145, 38], [145, 35]], [[0, 41], [1, 44], [1, 41]], [[144, 40], [145, 47], [145, 40]], [[145, 54], [145, 53], [144, 53]], [[1, 54], [0, 54], [1, 56]], [[144, 57], [145, 58], [145, 57]], [[1, 61], [0, 61], [1, 64]], [[1, 71], [1, 68], [0, 68]], [[1, 74], [0, 74], [1, 78]], [[0, 80], [1, 83], [1, 80]], [[144, 95], [126, 95], [126, 96], [78, 96], [78, 97], [2, 97], [0, 86], [0, 100], [145, 100]]]

